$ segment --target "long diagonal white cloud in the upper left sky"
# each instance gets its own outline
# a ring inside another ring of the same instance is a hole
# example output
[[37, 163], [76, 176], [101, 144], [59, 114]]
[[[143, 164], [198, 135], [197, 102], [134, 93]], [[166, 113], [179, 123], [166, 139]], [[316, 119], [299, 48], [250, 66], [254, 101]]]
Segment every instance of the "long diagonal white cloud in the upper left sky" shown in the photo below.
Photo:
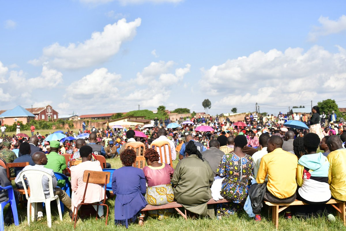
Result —
[[140, 24], [140, 18], [132, 22], [126, 22], [124, 18], [120, 19], [112, 25], [106, 25], [101, 33], [93, 32], [91, 38], [83, 43], [71, 43], [69, 46], [54, 43], [45, 47], [43, 56], [30, 60], [29, 63], [37, 65], [43, 61], [49, 61], [52, 66], [64, 69], [78, 69], [104, 63], [118, 53], [124, 41], [136, 35], [136, 28]]

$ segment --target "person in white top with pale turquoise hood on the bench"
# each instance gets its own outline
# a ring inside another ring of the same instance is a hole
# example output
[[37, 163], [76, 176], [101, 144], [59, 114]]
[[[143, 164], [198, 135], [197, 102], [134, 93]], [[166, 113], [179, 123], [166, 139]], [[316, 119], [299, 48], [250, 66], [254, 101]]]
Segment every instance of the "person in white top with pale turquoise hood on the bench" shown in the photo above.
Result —
[[[307, 133], [303, 142], [307, 155], [301, 156], [298, 160], [297, 200], [315, 206], [299, 206], [296, 208], [296, 214], [320, 216], [326, 208], [322, 204], [327, 203], [331, 198], [328, 184], [329, 162], [322, 153], [316, 153], [320, 144], [317, 134]], [[333, 219], [333, 217], [332, 214], [328, 215], [329, 219]]]

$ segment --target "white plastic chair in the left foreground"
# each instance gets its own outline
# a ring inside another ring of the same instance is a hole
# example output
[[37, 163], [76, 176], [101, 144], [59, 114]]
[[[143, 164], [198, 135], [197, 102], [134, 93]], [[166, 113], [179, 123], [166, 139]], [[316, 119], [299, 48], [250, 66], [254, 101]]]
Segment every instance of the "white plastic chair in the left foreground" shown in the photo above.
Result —
[[[28, 196], [28, 191], [25, 184], [25, 178], [28, 182], [28, 185], [30, 187], [30, 196]], [[48, 184], [49, 184], [49, 197], [46, 198], [44, 191], [43, 191], [43, 185], [42, 185], [42, 178], [43, 177], [48, 178]], [[30, 225], [30, 204], [31, 204], [31, 221], [36, 220], [37, 216], [37, 203], [45, 203], [46, 207], [46, 214], [47, 214], [47, 224], [48, 227], [52, 227], [52, 216], [51, 216], [51, 201], [56, 200], [56, 203], [58, 205], [58, 211], [59, 211], [59, 217], [60, 220], [63, 220], [63, 216], [61, 213], [61, 207], [60, 207], [60, 200], [58, 195], [54, 196], [53, 193], [53, 181], [52, 176], [46, 172], [40, 171], [40, 170], [25, 170], [20, 174], [20, 179], [24, 187], [25, 196], [28, 200], [28, 225]]]

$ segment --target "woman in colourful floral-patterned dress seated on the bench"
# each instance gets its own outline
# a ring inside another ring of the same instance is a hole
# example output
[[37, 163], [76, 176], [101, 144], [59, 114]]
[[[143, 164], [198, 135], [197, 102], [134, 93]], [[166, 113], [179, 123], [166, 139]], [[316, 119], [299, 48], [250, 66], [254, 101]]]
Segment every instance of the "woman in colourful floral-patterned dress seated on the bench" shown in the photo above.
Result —
[[247, 192], [253, 177], [252, 157], [243, 153], [247, 145], [246, 136], [239, 135], [234, 138], [234, 151], [222, 157], [216, 175], [225, 177], [222, 181], [221, 196], [232, 200], [230, 203], [217, 205], [217, 215], [230, 215], [244, 207]]

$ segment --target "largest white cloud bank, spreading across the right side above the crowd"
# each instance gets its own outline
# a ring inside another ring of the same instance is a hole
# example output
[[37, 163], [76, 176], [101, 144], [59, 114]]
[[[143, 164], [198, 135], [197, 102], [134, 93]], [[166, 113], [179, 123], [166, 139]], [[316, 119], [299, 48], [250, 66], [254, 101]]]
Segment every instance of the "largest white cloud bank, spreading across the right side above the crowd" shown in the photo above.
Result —
[[202, 92], [216, 100], [216, 107], [244, 107], [256, 102], [298, 105], [310, 100], [342, 99], [346, 52], [338, 48], [335, 54], [320, 46], [305, 53], [302, 48], [257, 51], [207, 70], [202, 68], [199, 84]]

